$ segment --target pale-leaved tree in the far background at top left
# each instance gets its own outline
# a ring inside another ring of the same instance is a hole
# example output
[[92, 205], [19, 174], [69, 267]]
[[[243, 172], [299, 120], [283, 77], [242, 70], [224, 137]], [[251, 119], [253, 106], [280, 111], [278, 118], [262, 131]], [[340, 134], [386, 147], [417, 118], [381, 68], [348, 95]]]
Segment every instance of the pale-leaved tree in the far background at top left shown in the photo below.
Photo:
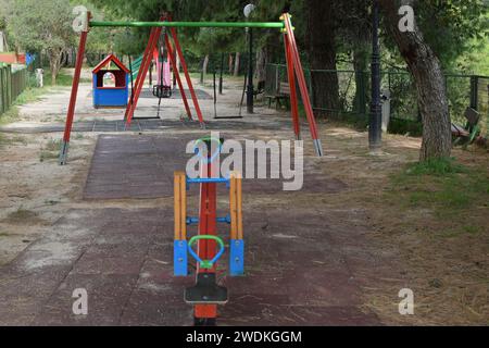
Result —
[[17, 48], [48, 54], [52, 85], [55, 85], [62, 55], [75, 37], [72, 22], [67, 0], [15, 0], [12, 3], [8, 32]]

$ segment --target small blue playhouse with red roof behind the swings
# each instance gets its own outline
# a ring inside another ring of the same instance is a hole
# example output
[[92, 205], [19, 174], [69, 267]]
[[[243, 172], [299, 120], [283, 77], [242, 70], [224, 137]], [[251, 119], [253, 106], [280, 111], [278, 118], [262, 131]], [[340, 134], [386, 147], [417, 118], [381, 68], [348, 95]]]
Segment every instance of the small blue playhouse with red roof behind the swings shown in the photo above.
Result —
[[92, 71], [93, 107], [126, 108], [129, 74], [129, 70], [114, 54], [105, 57]]

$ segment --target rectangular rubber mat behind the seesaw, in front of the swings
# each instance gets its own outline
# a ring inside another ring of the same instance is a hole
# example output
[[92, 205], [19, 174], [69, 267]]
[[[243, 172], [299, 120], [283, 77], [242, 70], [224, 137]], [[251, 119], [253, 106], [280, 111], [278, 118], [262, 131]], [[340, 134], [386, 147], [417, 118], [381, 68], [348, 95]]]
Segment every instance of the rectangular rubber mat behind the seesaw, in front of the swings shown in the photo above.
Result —
[[[206, 136], [209, 133], [161, 134], [145, 136], [102, 135], [99, 137], [96, 153], [85, 186], [85, 199], [130, 199], [173, 197], [173, 176], [175, 171], [185, 171], [187, 144]], [[226, 138], [226, 133], [222, 133]], [[180, 156], [175, 157], [175, 153]], [[271, 158], [265, 170], [269, 175]], [[292, 160], [293, 161], [293, 160]], [[292, 162], [293, 163], [293, 162]], [[265, 166], [263, 165], [263, 166]], [[247, 167], [243, 159], [243, 167]], [[258, 173], [258, 164], [254, 165]], [[287, 181], [286, 181], [287, 182]], [[273, 195], [283, 191], [283, 179], [244, 179], [247, 194]], [[304, 173], [304, 194], [333, 194], [341, 191], [346, 185], [339, 179], [327, 178], [318, 165], [312, 165]], [[197, 190], [192, 190], [197, 194]], [[297, 195], [297, 191], [288, 191]]]

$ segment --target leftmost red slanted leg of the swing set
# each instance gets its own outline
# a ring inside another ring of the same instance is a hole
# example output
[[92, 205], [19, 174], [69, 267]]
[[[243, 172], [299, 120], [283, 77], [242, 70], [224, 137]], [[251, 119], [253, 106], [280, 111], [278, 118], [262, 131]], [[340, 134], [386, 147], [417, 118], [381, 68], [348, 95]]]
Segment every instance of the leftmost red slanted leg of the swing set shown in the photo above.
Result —
[[[88, 15], [89, 17], [89, 15]], [[64, 126], [63, 144], [60, 153], [60, 164], [66, 164], [67, 151], [70, 146], [70, 137], [72, 134], [73, 119], [75, 116], [76, 97], [78, 94], [79, 77], [82, 75], [82, 66], [84, 63], [85, 45], [87, 42], [87, 32], [82, 32], [79, 37], [78, 52], [76, 54], [75, 75], [73, 77], [72, 94], [70, 96], [70, 105], [66, 114], [66, 124]]]

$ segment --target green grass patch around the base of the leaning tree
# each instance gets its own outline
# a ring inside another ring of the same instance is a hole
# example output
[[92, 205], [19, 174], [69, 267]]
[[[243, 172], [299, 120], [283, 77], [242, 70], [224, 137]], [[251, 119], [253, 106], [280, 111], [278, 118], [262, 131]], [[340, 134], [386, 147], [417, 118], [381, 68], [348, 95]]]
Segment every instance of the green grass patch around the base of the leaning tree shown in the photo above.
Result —
[[428, 209], [439, 219], [462, 219], [477, 207], [489, 207], [489, 173], [484, 166], [469, 169], [454, 159], [413, 163], [391, 177], [386, 195], [404, 209]]

